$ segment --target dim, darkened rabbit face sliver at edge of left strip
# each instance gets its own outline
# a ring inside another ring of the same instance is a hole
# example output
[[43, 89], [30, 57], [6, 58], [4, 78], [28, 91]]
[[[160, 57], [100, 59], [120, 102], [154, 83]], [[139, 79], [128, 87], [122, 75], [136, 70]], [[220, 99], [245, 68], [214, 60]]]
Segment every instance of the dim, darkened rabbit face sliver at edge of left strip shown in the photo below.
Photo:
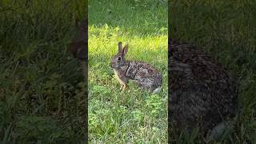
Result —
[[[86, 53], [86, 39], [87, 39], [87, 27], [86, 27], [86, 18], [82, 20], [80, 25], [77, 24], [77, 30], [76, 35], [73, 39], [73, 41], [70, 43], [69, 50], [74, 55], [74, 57], [78, 58], [80, 60], [81, 66], [82, 66], [82, 74], [86, 80], [87, 78], [87, 69], [86, 69], [86, 59], [87, 59], [87, 53]], [[87, 81], [87, 80], [86, 80]]]

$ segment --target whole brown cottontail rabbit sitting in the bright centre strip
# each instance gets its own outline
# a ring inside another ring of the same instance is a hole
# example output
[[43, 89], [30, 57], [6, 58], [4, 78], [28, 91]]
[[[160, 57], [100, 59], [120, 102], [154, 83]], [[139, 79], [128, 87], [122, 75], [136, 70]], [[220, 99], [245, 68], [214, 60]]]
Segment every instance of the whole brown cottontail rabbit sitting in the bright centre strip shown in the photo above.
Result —
[[128, 81], [134, 80], [144, 90], [156, 93], [162, 86], [162, 74], [150, 64], [137, 61], [126, 61], [128, 44], [122, 48], [122, 42], [118, 42], [118, 54], [111, 60], [115, 77], [121, 83], [122, 90], [127, 88]]

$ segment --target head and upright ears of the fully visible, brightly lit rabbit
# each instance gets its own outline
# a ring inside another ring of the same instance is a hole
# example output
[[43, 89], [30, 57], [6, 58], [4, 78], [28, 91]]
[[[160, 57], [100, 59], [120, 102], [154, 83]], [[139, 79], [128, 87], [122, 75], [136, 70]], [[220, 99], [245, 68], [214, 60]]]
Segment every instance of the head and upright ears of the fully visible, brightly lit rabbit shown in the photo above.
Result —
[[122, 48], [122, 42], [118, 42], [118, 54], [114, 55], [110, 66], [113, 69], [120, 69], [126, 63], [126, 53], [128, 51], [128, 44]]

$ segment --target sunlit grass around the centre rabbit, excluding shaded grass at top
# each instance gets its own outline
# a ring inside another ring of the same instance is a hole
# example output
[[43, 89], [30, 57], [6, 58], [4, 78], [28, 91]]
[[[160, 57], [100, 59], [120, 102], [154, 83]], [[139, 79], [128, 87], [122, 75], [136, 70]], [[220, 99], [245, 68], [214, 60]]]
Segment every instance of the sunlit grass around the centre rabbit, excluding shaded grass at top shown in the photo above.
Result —
[[[134, 82], [119, 90], [110, 67], [118, 42], [129, 60], [148, 62], [163, 75], [162, 90], [149, 94]], [[90, 142], [167, 142], [167, 34], [130, 34], [119, 27], [89, 26]]]

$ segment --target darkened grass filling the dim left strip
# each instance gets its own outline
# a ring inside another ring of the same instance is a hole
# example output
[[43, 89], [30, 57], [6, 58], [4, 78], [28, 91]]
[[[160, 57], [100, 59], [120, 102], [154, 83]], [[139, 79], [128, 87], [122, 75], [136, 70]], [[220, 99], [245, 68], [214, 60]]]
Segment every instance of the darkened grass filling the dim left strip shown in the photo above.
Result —
[[84, 1], [0, 2], [0, 143], [85, 139], [85, 88], [66, 46]]

